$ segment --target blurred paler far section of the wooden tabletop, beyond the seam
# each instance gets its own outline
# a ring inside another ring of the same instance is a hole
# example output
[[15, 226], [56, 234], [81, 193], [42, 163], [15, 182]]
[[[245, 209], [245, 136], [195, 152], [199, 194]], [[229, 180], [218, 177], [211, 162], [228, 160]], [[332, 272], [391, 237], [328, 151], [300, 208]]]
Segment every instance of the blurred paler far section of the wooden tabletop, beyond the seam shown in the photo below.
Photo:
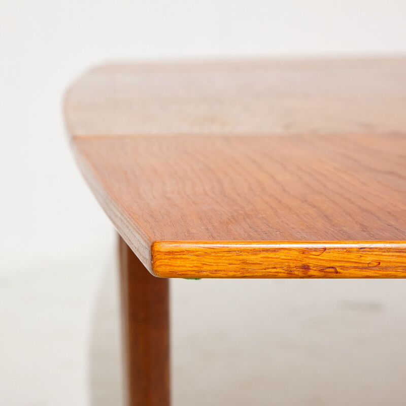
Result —
[[76, 136], [403, 131], [406, 58], [99, 66], [67, 93]]

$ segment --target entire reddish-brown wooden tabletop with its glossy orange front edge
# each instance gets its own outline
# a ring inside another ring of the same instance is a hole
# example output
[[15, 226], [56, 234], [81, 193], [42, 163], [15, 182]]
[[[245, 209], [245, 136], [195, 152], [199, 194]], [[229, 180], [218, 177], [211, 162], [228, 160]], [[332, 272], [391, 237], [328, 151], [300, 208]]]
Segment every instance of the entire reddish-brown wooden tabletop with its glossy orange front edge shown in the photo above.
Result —
[[156, 276], [406, 277], [406, 58], [104, 65], [65, 118]]

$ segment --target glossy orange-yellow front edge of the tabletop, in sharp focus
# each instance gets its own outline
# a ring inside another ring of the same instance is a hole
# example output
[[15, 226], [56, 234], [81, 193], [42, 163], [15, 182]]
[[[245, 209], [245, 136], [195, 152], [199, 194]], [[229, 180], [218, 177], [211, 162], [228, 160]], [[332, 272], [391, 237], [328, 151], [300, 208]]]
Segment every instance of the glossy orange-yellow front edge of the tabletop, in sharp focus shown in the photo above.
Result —
[[161, 278], [406, 278], [406, 241], [156, 241]]

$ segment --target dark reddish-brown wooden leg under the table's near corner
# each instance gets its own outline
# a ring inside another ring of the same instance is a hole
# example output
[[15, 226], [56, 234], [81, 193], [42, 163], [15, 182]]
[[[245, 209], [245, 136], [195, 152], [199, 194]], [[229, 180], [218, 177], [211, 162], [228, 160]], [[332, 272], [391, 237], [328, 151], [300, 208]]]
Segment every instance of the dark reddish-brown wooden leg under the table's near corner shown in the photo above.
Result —
[[169, 281], [119, 238], [126, 406], [169, 406]]

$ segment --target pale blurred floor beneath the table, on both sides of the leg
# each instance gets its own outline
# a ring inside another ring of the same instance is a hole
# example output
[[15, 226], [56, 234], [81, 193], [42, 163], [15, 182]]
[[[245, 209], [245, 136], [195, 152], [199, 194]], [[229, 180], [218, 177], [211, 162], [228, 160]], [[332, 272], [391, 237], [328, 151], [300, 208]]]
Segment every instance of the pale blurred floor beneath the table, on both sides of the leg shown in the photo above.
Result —
[[[0, 278], [0, 404], [119, 406], [114, 261], [31, 274]], [[171, 288], [174, 406], [406, 404], [406, 281]]]

